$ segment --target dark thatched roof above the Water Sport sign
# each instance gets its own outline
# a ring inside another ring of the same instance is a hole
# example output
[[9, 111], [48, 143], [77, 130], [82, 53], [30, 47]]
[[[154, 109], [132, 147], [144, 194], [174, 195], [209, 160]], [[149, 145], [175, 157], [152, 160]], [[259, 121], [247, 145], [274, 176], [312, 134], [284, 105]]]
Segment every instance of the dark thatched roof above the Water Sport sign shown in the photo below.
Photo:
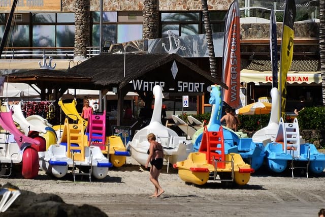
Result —
[[[161, 75], [167, 71], [170, 72], [174, 61], [176, 61], [179, 71], [186, 71], [187, 80], [196, 81], [201, 77], [205, 81], [226, 87], [224, 83], [211, 77], [208, 72], [177, 54], [101, 53], [68, 70], [68, 73], [77, 73], [91, 78], [96, 86], [118, 85], [119, 88], [122, 88], [129, 81], [139, 77], [156, 78], [157, 73]], [[164, 77], [164, 75], [162, 76]]]

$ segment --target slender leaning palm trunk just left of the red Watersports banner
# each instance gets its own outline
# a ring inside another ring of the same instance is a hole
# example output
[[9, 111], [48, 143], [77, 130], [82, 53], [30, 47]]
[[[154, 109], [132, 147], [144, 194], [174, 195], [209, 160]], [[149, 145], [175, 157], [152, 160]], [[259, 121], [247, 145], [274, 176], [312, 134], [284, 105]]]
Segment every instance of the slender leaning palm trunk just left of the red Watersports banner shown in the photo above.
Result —
[[209, 50], [209, 61], [210, 61], [210, 72], [211, 76], [216, 78], [216, 59], [214, 54], [214, 47], [213, 47], [213, 38], [212, 38], [212, 29], [209, 17], [209, 10], [208, 10], [208, 2], [207, 0], [201, 0], [202, 4], [202, 12], [203, 12], [203, 19], [204, 19], [204, 28], [208, 43], [208, 50]]

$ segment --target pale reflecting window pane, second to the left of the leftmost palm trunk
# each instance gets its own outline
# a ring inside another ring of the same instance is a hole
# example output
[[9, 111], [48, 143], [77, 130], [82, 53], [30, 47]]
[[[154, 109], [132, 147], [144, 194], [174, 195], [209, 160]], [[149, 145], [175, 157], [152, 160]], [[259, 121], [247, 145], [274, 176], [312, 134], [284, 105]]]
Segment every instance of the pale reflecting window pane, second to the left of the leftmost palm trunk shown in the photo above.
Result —
[[55, 47], [55, 25], [34, 25], [32, 27], [33, 47]]

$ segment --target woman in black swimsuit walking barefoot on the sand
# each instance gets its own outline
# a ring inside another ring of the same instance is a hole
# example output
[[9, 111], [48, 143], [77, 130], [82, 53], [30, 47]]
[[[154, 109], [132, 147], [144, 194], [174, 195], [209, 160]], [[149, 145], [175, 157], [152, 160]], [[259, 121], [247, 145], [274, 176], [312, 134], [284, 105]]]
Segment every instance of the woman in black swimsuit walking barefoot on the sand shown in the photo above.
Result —
[[161, 168], [163, 168], [164, 161], [164, 151], [163, 146], [160, 143], [156, 142], [156, 136], [153, 133], [147, 135], [148, 142], [150, 143], [149, 147], [149, 156], [146, 163], [146, 168], [150, 162], [150, 176], [149, 179], [155, 187], [154, 194], [150, 197], [159, 197], [165, 191], [160, 187], [158, 182], [158, 176], [160, 174]]

